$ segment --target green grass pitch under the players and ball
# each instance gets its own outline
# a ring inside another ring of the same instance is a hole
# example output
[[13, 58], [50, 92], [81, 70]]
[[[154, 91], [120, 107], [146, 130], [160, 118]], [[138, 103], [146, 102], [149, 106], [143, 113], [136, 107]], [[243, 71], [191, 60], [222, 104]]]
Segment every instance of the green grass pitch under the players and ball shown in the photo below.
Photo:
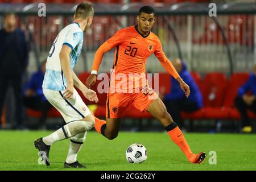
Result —
[[[51, 166], [38, 164], [34, 140], [51, 131], [0, 131], [0, 170], [72, 170], [64, 169], [69, 140], [56, 142], [51, 147]], [[85, 170], [256, 170], [256, 135], [241, 134], [185, 134], [193, 152], [216, 151], [217, 164], [207, 159], [190, 164], [167, 133], [120, 132], [118, 138], [108, 140], [89, 131], [78, 160]], [[148, 158], [142, 164], [126, 161], [125, 151], [130, 144], [141, 143], [147, 148]]]

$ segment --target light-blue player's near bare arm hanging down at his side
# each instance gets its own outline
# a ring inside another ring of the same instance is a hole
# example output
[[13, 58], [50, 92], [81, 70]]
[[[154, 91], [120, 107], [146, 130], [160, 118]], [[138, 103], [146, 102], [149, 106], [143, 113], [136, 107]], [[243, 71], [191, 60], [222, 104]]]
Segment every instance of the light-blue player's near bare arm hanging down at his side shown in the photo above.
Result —
[[61, 69], [65, 75], [65, 78], [67, 80], [67, 88], [65, 92], [63, 93], [64, 99], [71, 99], [73, 97], [73, 77], [72, 77], [72, 71], [70, 69], [70, 58], [69, 54], [71, 53], [72, 49], [67, 46], [63, 45], [60, 51], [60, 65]]

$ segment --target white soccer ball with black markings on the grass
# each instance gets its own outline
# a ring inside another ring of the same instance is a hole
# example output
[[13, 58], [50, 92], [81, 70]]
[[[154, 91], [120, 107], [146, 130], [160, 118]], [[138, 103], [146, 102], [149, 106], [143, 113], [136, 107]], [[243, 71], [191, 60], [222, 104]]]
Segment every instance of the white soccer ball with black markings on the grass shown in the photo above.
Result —
[[129, 163], [143, 163], [147, 159], [147, 150], [142, 144], [134, 143], [127, 148], [125, 155]]

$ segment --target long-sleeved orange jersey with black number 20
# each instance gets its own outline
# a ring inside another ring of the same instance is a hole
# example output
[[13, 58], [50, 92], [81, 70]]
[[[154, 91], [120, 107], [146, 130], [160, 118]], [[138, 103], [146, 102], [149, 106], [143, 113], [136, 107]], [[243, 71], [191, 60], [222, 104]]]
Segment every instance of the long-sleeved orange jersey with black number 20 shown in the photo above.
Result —
[[[96, 52], [93, 70], [97, 71], [101, 63], [101, 60], [99, 60], [102, 59], [100, 50], [104, 50], [102, 52], [105, 53], [114, 47], [114, 71], [110, 82], [112, 93], [120, 92], [120, 90], [123, 90], [123, 93], [134, 93], [134, 89], [141, 89], [146, 84], [146, 77], [141, 73], [146, 73], [146, 61], [152, 53], [158, 57], [163, 67], [175, 78], [179, 76], [171, 62], [164, 55], [158, 36], [153, 32], [143, 36], [137, 30], [137, 26], [119, 30], [112, 38], [102, 44]], [[124, 76], [126, 78], [123, 78]], [[139, 84], [138, 79], [140, 80]], [[115, 89], [114, 92], [113, 89]]]

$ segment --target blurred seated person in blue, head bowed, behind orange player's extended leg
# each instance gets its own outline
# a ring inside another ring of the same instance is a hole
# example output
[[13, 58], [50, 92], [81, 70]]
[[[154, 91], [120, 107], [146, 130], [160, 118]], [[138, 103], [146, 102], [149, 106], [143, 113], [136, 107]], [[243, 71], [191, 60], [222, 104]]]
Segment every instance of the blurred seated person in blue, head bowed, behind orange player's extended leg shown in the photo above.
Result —
[[164, 104], [166, 104], [167, 111], [171, 114], [172, 119], [174, 119], [181, 129], [184, 129], [181, 111], [193, 112], [201, 109], [201, 107], [203, 107], [203, 98], [196, 82], [187, 71], [187, 65], [185, 65], [184, 61], [175, 59], [172, 64], [183, 81], [190, 87], [191, 93], [190, 96], [186, 98], [183, 90], [180, 89], [179, 82], [171, 77], [171, 90], [170, 93], [164, 97]]

